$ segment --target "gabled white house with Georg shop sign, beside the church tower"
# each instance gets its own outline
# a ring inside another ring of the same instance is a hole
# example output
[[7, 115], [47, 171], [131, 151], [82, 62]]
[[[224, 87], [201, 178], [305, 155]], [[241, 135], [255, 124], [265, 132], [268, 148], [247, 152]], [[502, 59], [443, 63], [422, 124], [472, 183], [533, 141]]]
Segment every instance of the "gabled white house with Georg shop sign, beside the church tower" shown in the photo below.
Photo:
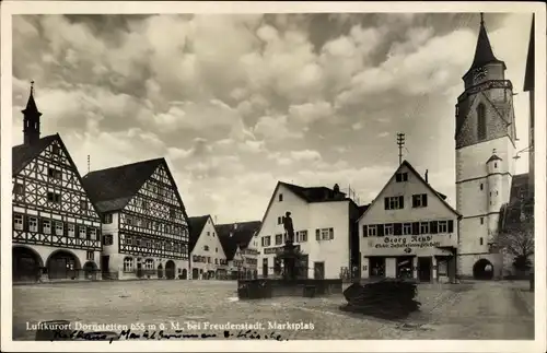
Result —
[[455, 275], [458, 213], [403, 162], [359, 219], [363, 279]]

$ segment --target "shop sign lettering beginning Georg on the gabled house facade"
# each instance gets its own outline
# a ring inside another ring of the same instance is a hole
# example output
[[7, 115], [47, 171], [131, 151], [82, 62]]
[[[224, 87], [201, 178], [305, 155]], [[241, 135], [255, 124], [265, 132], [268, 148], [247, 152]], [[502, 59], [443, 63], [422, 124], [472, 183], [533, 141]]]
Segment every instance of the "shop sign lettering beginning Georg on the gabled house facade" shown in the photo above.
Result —
[[369, 238], [369, 251], [377, 255], [409, 255], [416, 252], [443, 254], [438, 249], [443, 246], [455, 246], [453, 234], [443, 235], [397, 235]]

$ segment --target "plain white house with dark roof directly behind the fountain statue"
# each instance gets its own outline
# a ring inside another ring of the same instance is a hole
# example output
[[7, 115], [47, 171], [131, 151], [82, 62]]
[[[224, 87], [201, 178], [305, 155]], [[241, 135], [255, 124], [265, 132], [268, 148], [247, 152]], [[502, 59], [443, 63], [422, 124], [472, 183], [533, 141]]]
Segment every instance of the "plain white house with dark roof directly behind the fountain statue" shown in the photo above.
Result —
[[283, 216], [291, 212], [294, 245], [307, 255], [307, 278], [340, 278], [350, 268], [351, 210], [357, 205], [339, 190], [278, 183], [258, 233], [258, 274], [279, 274], [275, 257], [287, 239]]

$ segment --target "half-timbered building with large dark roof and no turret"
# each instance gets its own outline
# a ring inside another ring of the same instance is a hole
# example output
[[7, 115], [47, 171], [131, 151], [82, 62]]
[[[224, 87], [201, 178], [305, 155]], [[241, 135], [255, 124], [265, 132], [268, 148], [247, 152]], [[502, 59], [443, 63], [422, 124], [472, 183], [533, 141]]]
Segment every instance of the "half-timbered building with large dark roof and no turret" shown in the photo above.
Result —
[[103, 278], [187, 278], [188, 216], [163, 157], [91, 172], [83, 186], [102, 216]]

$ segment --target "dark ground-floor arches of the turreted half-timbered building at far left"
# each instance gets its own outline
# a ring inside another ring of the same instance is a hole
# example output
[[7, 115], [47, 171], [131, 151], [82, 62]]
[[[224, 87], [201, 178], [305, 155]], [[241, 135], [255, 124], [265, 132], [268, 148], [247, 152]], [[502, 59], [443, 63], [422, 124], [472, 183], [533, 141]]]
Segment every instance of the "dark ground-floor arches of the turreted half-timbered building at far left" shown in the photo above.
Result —
[[63, 249], [51, 252], [44, 263], [42, 257], [28, 247], [16, 246], [12, 249], [12, 275], [14, 282], [39, 281], [43, 273], [49, 280], [78, 279], [82, 274], [92, 279], [98, 271], [94, 261], [83, 266], [72, 252]]

